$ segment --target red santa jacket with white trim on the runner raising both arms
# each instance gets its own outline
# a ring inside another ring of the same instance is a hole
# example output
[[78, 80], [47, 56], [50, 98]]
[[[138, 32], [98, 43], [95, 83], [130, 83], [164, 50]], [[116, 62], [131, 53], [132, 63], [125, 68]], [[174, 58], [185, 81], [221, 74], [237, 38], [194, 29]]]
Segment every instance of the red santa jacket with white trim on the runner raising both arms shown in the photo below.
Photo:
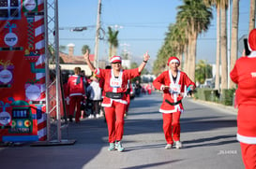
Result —
[[[121, 82], [120, 87], [113, 88], [111, 85], [111, 81], [113, 77], [113, 70], [112, 69], [96, 69], [95, 74], [99, 78], [104, 78], [104, 86], [103, 91], [105, 92], [127, 92], [128, 90], [128, 79], [133, 77], [138, 77], [141, 74], [139, 73], [139, 69], [126, 69], [122, 70], [119, 75], [119, 81]], [[121, 99], [111, 99], [106, 96], [103, 98], [102, 106], [112, 106], [113, 101], [119, 102], [122, 104], [127, 105], [127, 94], [124, 94], [123, 98]]]

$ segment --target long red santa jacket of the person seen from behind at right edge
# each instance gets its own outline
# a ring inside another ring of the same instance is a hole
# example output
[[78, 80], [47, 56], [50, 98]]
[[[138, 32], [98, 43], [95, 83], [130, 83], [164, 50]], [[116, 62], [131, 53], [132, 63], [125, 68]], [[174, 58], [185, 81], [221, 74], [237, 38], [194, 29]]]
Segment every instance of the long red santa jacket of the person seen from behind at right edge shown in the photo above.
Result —
[[230, 77], [238, 84], [235, 92], [238, 105], [237, 140], [256, 144], [256, 51], [239, 58]]

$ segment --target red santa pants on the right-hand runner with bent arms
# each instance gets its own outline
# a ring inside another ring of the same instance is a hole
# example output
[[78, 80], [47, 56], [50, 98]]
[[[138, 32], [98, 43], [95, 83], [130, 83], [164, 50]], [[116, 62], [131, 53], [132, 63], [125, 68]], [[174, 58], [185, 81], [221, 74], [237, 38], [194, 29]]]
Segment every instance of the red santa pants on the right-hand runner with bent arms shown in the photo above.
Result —
[[173, 140], [179, 141], [180, 139], [180, 112], [162, 113], [162, 118], [162, 128], [166, 142], [173, 145]]

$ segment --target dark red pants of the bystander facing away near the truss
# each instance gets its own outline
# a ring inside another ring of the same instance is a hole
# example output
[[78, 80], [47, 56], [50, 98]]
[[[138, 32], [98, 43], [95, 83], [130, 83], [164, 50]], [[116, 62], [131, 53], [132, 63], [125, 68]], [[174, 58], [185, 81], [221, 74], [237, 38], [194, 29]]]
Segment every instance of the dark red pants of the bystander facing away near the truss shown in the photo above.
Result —
[[69, 102], [69, 115], [74, 116], [74, 112], [76, 110], [76, 122], [80, 121], [80, 114], [81, 114], [81, 102], [83, 100], [82, 95], [74, 95], [70, 97]]

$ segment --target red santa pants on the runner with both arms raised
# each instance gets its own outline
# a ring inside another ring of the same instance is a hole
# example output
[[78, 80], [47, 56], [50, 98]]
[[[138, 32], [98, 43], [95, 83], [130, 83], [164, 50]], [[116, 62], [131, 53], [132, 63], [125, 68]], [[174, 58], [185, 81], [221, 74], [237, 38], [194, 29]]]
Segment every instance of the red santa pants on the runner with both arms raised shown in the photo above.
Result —
[[114, 102], [111, 107], [105, 107], [105, 117], [108, 124], [109, 142], [120, 141], [124, 134], [124, 115], [127, 105]]

